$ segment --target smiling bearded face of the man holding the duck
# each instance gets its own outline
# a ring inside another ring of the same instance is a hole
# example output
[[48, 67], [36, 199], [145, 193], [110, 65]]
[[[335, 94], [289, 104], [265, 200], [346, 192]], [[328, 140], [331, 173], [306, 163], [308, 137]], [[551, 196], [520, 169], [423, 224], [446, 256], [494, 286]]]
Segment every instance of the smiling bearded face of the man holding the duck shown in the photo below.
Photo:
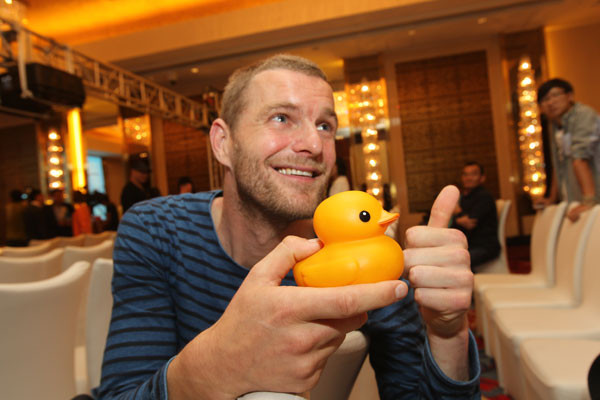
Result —
[[285, 221], [311, 218], [335, 162], [331, 87], [277, 69], [256, 75], [245, 96], [231, 161], [242, 204]]

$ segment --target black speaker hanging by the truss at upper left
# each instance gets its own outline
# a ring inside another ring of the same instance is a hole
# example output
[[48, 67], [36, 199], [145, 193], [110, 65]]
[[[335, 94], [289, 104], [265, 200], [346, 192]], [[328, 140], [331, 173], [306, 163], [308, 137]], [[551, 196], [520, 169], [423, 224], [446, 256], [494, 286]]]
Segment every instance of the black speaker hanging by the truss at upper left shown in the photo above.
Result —
[[78, 76], [38, 63], [27, 64], [26, 74], [32, 99], [21, 97], [16, 67], [0, 76], [0, 101], [4, 107], [39, 112], [53, 105], [81, 107], [85, 102], [85, 89]]

